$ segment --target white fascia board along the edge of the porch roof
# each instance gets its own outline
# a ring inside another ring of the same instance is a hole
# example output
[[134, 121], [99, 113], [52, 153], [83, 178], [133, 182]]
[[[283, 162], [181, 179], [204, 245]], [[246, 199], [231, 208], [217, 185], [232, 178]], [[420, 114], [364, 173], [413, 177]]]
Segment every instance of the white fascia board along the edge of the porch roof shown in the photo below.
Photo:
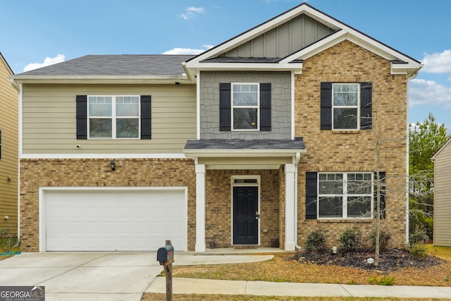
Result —
[[306, 154], [307, 149], [185, 149], [188, 158], [278, 157]]

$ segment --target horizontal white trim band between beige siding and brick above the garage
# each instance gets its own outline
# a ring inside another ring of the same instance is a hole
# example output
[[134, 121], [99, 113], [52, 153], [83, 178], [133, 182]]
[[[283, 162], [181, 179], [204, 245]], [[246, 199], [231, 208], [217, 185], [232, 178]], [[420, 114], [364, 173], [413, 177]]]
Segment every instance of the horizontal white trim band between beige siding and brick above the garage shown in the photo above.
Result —
[[19, 159], [189, 159], [185, 154], [21, 154]]

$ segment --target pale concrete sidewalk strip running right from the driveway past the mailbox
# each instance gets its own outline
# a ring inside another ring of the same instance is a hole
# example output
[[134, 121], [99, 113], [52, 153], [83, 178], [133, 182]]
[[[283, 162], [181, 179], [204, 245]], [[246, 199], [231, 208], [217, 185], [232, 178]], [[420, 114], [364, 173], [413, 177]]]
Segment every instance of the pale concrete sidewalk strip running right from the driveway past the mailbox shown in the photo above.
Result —
[[[157, 277], [145, 293], [166, 293], [166, 278]], [[451, 287], [276, 283], [173, 278], [174, 294], [276, 295], [321, 297], [451, 298]]]

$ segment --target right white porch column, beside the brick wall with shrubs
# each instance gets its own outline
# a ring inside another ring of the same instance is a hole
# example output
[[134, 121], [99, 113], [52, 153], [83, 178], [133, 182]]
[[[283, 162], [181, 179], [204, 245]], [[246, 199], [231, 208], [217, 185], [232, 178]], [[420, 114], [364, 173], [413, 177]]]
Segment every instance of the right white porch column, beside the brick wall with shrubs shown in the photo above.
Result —
[[295, 238], [295, 164], [285, 164], [285, 251], [294, 251]]

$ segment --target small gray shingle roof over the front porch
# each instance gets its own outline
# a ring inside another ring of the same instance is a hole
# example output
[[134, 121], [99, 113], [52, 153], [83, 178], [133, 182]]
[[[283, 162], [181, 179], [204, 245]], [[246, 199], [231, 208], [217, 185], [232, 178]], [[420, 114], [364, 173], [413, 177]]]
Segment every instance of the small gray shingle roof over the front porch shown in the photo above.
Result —
[[305, 149], [302, 138], [295, 140], [188, 140], [185, 149]]

